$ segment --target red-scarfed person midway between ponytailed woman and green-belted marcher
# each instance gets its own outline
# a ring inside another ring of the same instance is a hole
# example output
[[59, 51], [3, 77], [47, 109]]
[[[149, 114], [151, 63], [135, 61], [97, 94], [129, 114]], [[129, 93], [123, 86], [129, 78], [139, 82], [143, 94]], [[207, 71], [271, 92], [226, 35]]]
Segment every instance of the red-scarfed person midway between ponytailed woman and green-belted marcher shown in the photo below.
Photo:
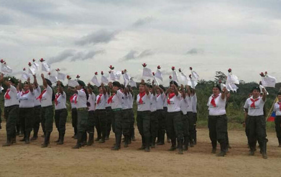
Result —
[[[96, 121], [95, 126], [99, 125], [99, 128], [101, 129], [101, 137], [100, 137], [100, 143], [105, 142], [106, 137], [106, 89], [104, 87], [104, 84], [101, 83], [101, 85], [98, 87], [99, 94], [96, 96]], [[96, 126], [97, 129], [97, 126]], [[98, 130], [98, 129], [97, 129]], [[99, 137], [98, 137], [99, 138]]]

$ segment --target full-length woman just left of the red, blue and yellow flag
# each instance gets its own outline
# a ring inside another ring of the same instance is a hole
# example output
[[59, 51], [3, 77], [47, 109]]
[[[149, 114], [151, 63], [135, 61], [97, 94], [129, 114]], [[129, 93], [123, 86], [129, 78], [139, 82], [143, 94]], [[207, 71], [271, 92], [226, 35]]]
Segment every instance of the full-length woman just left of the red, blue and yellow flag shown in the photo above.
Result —
[[263, 158], [267, 158], [267, 134], [266, 123], [264, 118], [264, 103], [266, 101], [267, 92], [262, 89], [262, 97], [260, 97], [260, 88], [254, 87], [252, 89], [252, 96], [245, 102], [245, 122], [247, 122], [246, 129], [248, 131], [248, 142], [250, 145], [249, 155], [253, 156], [256, 150], [256, 138], [258, 139], [261, 154]]

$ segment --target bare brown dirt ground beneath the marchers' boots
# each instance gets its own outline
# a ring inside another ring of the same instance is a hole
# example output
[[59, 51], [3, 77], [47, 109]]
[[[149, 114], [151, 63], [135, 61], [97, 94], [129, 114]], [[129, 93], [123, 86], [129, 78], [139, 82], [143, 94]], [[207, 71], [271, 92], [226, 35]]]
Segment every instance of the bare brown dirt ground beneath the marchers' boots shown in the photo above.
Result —
[[[5, 124], [2, 128], [1, 145], [6, 140]], [[281, 148], [277, 147], [274, 132], [268, 132], [268, 159], [261, 158], [258, 151], [255, 156], [248, 156], [244, 131], [229, 131], [232, 149], [225, 157], [211, 154], [208, 129], [198, 129], [197, 133], [197, 145], [179, 155], [167, 150], [169, 143], [149, 153], [138, 150], [141, 140], [137, 129], [136, 141], [128, 148], [122, 145], [119, 151], [110, 149], [114, 134], [104, 144], [95, 142], [93, 146], [71, 149], [76, 143], [71, 138], [71, 124], [67, 124], [64, 145], [54, 143], [58, 138], [54, 126], [49, 148], [41, 148], [41, 137], [29, 145], [17, 137], [16, 144], [0, 147], [0, 176], [280, 176]]]

